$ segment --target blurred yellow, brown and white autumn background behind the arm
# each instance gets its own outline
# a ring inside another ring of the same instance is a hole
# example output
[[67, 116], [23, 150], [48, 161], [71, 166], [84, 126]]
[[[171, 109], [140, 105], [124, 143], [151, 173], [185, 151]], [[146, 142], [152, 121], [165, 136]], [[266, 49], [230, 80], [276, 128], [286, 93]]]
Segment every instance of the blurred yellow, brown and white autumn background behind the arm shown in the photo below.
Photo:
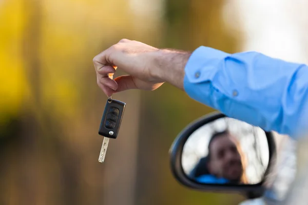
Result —
[[308, 63], [307, 4], [0, 0], [0, 204], [242, 201], [237, 194], [187, 189], [172, 177], [172, 141], [213, 110], [167, 84], [113, 96], [127, 107], [119, 136], [99, 163], [98, 129], [107, 98], [97, 86], [92, 58], [128, 38], [159, 48], [255, 50]]

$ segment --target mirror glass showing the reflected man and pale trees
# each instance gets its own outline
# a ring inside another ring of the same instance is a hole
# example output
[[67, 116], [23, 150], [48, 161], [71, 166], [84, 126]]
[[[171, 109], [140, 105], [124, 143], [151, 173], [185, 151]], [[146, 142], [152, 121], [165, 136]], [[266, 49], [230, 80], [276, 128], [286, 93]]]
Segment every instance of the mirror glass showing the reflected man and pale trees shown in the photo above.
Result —
[[229, 117], [201, 126], [185, 142], [184, 173], [199, 183], [255, 185], [268, 166], [265, 132]]

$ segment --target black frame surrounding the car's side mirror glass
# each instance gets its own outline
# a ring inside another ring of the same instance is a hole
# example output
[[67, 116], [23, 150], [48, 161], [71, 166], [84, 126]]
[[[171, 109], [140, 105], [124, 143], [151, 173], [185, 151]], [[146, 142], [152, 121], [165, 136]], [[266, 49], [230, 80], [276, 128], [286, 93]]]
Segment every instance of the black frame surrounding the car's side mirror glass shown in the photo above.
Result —
[[172, 174], [182, 185], [195, 190], [210, 192], [237, 192], [244, 194], [247, 198], [260, 197], [265, 191], [265, 187], [263, 185], [266, 180], [266, 177], [272, 169], [273, 162], [276, 161], [276, 145], [272, 132], [264, 131], [266, 134], [269, 149], [268, 166], [264, 173], [262, 181], [257, 183], [256, 185], [204, 185], [202, 183], [189, 179], [188, 176], [184, 173], [181, 157], [184, 144], [187, 141], [188, 137], [198, 128], [207, 124], [208, 122], [223, 117], [228, 116], [220, 112], [210, 113], [191, 122], [188, 126], [186, 126], [186, 128], [184, 128], [184, 130], [182, 130], [181, 133], [178, 134], [169, 150]]

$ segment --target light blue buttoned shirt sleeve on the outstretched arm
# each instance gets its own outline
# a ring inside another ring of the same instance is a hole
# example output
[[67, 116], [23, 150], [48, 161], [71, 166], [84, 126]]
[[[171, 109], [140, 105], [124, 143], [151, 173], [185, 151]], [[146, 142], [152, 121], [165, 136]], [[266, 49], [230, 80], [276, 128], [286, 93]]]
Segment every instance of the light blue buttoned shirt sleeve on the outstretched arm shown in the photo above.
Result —
[[184, 90], [225, 115], [297, 138], [308, 124], [308, 67], [258, 52], [199, 47], [185, 67]]

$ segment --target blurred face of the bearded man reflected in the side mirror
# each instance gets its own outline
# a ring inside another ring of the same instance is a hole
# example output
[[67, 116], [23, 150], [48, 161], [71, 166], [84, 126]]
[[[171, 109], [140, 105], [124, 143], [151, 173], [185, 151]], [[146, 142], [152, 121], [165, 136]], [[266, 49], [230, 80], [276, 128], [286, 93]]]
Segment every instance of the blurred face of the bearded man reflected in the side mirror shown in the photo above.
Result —
[[208, 170], [210, 174], [232, 181], [239, 181], [243, 175], [241, 155], [236, 139], [229, 134], [216, 137], [209, 147]]

